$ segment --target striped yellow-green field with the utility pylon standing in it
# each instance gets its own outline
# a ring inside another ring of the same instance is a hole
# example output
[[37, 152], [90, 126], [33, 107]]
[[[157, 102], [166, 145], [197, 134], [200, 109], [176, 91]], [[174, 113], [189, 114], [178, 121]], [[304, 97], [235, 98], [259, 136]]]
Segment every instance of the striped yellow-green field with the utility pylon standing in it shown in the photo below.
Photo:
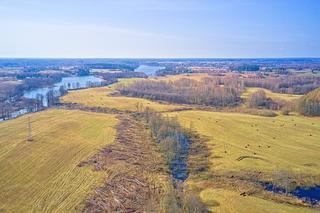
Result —
[[0, 212], [78, 212], [105, 174], [77, 165], [112, 143], [112, 115], [49, 110], [0, 123]]

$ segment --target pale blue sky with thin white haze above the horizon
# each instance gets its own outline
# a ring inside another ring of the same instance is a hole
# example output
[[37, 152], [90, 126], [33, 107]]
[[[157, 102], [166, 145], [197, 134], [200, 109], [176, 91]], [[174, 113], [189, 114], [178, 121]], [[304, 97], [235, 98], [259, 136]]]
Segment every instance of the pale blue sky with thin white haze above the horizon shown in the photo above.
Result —
[[320, 1], [1, 0], [0, 57], [320, 57]]

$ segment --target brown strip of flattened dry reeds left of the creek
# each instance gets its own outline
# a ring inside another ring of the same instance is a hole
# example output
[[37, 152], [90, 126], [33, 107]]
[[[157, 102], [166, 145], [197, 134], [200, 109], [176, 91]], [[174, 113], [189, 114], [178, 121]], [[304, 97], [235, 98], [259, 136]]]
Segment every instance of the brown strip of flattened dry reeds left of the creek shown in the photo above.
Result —
[[86, 201], [84, 212], [154, 212], [168, 194], [164, 159], [149, 130], [130, 115], [119, 119], [116, 142], [79, 164], [108, 174], [104, 186]]

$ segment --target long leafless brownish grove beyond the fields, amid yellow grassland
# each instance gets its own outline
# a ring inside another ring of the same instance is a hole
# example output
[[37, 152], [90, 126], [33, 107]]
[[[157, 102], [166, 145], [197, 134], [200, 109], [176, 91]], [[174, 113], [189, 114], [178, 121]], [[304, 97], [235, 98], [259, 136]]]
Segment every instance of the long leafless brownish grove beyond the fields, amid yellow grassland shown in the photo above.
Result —
[[176, 81], [140, 80], [121, 85], [122, 95], [179, 104], [206, 106], [235, 106], [240, 102], [243, 90], [237, 78], [217, 79], [207, 77], [201, 81], [182, 78]]

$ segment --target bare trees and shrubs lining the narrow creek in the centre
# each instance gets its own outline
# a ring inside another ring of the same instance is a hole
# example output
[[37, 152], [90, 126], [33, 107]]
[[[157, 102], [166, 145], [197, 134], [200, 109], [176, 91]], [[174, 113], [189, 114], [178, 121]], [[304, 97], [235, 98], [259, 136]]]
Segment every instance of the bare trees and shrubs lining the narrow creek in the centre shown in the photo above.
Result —
[[168, 212], [207, 213], [208, 210], [197, 193], [184, 190], [181, 184], [189, 173], [187, 165], [191, 139], [189, 139], [188, 130], [180, 126], [176, 117], [163, 116], [139, 103], [137, 112], [149, 126], [153, 138], [166, 158], [170, 173], [176, 181], [175, 191], [165, 202], [166, 210]]

